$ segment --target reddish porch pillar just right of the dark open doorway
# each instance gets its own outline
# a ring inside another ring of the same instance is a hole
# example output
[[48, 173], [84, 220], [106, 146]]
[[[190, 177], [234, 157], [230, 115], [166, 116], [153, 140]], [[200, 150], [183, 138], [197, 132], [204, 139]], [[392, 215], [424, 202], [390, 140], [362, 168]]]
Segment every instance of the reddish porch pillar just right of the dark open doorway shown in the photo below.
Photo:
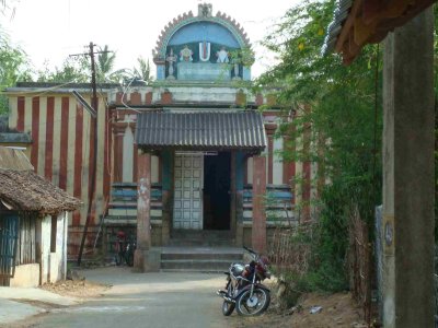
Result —
[[266, 251], [266, 157], [253, 157], [253, 226], [252, 247], [257, 253]]

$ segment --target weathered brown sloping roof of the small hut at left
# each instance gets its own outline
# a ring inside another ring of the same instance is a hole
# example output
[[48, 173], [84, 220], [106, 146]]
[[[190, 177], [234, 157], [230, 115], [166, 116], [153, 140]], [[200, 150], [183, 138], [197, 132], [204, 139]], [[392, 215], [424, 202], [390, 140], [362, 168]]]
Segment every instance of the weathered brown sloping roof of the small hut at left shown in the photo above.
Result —
[[81, 201], [32, 171], [0, 168], [0, 200], [16, 211], [55, 215], [73, 211]]

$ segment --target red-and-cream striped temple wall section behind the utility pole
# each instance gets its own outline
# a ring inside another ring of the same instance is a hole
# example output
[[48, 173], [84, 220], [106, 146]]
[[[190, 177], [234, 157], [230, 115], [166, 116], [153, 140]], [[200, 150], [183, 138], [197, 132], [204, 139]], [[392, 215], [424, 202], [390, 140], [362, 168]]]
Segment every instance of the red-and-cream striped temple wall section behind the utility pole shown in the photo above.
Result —
[[[84, 98], [90, 103], [90, 96]], [[99, 102], [96, 207], [91, 219], [90, 236], [110, 195], [111, 133], [108, 113], [103, 98]], [[94, 131], [90, 114], [69, 93], [10, 95], [10, 128], [30, 132], [33, 144], [30, 160], [35, 172], [82, 200], [83, 206], [69, 215], [70, 254], [77, 254], [87, 220], [90, 190], [90, 163]]]

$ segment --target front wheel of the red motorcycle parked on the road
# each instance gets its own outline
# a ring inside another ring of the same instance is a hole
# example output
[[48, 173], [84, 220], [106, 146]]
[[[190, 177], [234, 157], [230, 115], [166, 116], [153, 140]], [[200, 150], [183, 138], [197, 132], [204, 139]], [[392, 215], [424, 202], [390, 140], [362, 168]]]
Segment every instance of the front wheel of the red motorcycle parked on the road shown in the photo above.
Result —
[[258, 316], [266, 311], [270, 303], [270, 293], [266, 290], [255, 288], [253, 296], [251, 290], [239, 296], [235, 302], [235, 309], [241, 316]]

